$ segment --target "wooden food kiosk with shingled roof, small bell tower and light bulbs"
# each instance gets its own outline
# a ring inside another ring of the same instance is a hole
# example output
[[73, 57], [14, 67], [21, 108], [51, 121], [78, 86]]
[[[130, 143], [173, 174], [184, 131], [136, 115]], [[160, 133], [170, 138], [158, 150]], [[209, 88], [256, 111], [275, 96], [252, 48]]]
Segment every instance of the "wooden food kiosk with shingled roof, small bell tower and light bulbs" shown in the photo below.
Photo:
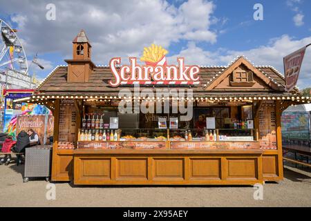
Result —
[[[124, 99], [140, 103], [148, 98], [120, 96], [121, 89], [131, 94], [134, 86], [109, 84], [111, 68], [93, 64], [83, 30], [73, 40], [73, 59], [66, 62], [68, 66], [57, 66], [29, 100], [50, 107], [55, 117], [53, 181], [249, 185], [283, 180], [281, 113], [291, 104], [309, 102], [309, 97], [301, 97], [298, 90], [286, 92], [283, 75], [271, 66], [253, 66], [238, 57], [229, 66], [200, 67], [198, 85], [140, 86], [193, 91], [187, 102], [193, 103], [194, 119], [160, 129], [163, 115], [118, 111]], [[149, 102], [162, 104], [165, 99], [150, 97]], [[117, 140], [81, 141], [82, 133], [87, 139], [93, 133], [84, 128], [87, 119], [103, 118], [108, 131], [111, 117], [118, 119], [113, 130]], [[170, 117], [179, 114], [165, 117], [170, 124]], [[202, 128], [202, 117], [214, 119], [212, 131]]]

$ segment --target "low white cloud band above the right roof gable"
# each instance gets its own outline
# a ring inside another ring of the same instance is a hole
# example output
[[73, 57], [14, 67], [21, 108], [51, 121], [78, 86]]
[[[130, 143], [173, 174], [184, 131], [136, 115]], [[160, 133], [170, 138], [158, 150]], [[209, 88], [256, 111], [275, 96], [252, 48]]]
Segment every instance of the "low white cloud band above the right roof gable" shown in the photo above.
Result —
[[[244, 55], [255, 65], [274, 66], [277, 70], [283, 73], [283, 57], [291, 52], [302, 48], [311, 43], [311, 36], [304, 39], [295, 40], [288, 35], [283, 35], [279, 38], [271, 39], [267, 46], [260, 46], [250, 50], [226, 50], [220, 48], [215, 52], [202, 50], [196, 46], [194, 42], [188, 44], [187, 48], [182, 50], [178, 55], [173, 55], [168, 58], [170, 63], [176, 63], [176, 57], [185, 57], [187, 64], [198, 65], [227, 65], [236, 56]], [[305, 53], [305, 59], [301, 68], [298, 86], [305, 88], [311, 86], [311, 47]]]

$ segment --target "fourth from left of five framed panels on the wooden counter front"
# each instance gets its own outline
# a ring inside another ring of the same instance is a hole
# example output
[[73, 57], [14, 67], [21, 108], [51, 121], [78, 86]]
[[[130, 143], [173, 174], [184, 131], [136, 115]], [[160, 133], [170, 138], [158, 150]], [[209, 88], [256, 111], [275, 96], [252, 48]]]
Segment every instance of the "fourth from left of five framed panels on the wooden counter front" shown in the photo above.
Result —
[[220, 179], [220, 158], [191, 158], [191, 179]]

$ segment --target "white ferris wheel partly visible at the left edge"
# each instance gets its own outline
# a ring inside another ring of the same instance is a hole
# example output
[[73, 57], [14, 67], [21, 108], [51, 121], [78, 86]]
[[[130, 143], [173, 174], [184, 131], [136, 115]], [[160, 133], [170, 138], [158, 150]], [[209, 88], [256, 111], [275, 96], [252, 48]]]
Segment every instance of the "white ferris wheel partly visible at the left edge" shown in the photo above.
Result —
[[0, 81], [6, 88], [30, 88], [28, 61], [17, 30], [0, 19]]

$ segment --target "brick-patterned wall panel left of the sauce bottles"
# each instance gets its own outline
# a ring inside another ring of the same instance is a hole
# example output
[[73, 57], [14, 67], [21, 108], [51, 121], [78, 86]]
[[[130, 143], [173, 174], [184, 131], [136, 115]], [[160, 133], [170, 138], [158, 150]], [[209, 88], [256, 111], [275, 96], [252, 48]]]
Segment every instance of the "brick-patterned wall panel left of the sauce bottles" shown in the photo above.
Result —
[[75, 142], [77, 113], [73, 99], [61, 99], [59, 106], [59, 142]]

